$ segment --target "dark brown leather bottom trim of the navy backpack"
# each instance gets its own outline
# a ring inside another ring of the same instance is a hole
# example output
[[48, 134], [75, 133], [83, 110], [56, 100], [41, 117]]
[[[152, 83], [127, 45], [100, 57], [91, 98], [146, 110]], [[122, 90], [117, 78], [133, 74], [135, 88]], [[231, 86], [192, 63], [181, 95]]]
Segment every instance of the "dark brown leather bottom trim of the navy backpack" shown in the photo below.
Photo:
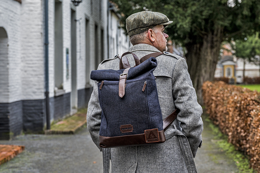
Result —
[[157, 132], [158, 132], [159, 141], [154, 140], [156, 142], [150, 142], [150, 141], [147, 142], [144, 133], [137, 134], [137, 135], [125, 135], [125, 136], [115, 136], [115, 137], [99, 136], [99, 146], [102, 148], [112, 148], [112, 147], [139, 146], [139, 145], [165, 142], [164, 130], [157, 131]]

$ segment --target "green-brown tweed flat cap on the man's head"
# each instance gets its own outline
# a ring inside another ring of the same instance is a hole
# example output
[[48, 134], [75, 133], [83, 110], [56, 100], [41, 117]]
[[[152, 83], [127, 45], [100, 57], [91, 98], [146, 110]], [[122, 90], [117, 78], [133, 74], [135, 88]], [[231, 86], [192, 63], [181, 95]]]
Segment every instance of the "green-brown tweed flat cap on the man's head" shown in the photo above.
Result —
[[167, 16], [159, 12], [153, 11], [141, 11], [134, 13], [126, 19], [126, 30], [129, 37], [144, 32], [149, 28], [156, 25], [167, 25], [171, 24]]

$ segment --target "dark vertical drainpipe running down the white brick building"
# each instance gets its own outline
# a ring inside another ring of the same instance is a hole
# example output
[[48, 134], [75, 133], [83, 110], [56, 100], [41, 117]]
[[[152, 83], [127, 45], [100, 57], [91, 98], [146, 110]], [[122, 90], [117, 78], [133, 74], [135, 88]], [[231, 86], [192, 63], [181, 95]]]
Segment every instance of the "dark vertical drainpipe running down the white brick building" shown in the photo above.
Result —
[[45, 101], [46, 101], [46, 124], [50, 129], [50, 100], [49, 100], [49, 31], [48, 31], [48, 0], [45, 0]]

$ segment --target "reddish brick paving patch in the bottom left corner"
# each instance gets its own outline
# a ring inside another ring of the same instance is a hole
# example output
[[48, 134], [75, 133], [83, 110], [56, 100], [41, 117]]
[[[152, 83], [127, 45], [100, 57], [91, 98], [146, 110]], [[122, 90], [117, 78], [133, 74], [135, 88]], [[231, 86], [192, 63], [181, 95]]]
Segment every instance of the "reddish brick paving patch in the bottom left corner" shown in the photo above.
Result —
[[17, 145], [0, 145], [0, 165], [22, 153], [24, 148], [24, 146]]

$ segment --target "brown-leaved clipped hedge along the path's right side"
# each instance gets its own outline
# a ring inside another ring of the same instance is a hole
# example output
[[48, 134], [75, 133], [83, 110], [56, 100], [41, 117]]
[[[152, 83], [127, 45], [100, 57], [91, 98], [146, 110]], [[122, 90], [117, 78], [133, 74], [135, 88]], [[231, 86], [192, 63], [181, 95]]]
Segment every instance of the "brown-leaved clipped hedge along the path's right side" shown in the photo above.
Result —
[[202, 89], [210, 119], [260, 173], [260, 94], [223, 81], [207, 81]]

